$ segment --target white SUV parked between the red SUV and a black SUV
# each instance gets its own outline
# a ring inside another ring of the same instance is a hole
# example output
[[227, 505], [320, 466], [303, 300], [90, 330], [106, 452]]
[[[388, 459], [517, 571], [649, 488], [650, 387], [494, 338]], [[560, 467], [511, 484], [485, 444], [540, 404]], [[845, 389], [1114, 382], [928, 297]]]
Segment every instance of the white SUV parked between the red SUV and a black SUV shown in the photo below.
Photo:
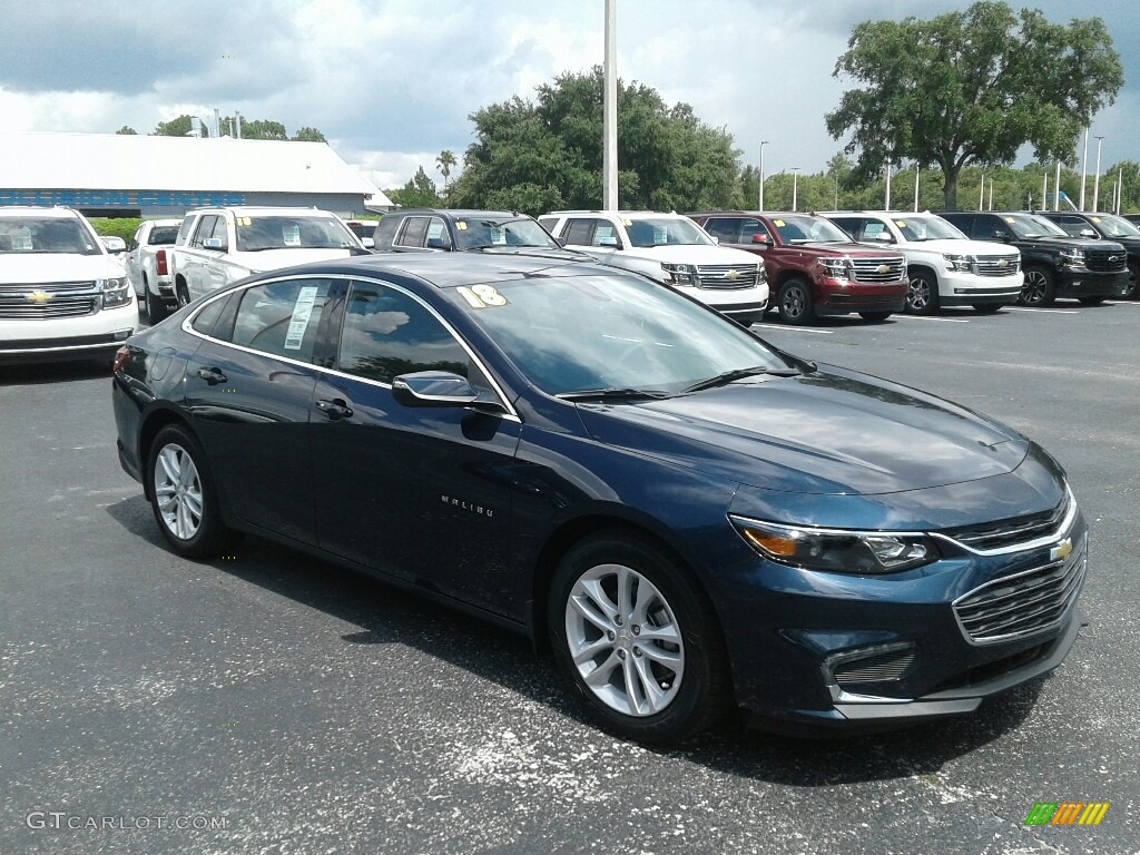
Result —
[[937, 214], [901, 211], [823, 211], [860, 243], [890, 246], [906, 256], [906, 311], [934, 315], [946, 306], [993, 312], [1021, 295], [1021, 253], [1015, 246], [971, 241]]

